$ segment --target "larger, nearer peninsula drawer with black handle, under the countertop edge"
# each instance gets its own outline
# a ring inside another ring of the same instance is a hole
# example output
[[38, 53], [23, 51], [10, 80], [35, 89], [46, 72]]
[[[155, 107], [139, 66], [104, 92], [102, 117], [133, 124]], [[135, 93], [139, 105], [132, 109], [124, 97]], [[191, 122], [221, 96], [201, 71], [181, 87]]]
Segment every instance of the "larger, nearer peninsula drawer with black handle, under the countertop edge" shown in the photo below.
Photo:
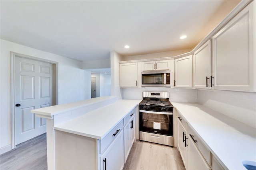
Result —
[[[119, 135], [120, 131], [124, 127], [124, 121], [120, 121], [118, 125], [116, 125], [108, 135], [106, 135], [102, 140], [100, 140], [100, 153], [102, 153], [108, 145]], [[114, 135], [116, 134], [116, 135]]]

